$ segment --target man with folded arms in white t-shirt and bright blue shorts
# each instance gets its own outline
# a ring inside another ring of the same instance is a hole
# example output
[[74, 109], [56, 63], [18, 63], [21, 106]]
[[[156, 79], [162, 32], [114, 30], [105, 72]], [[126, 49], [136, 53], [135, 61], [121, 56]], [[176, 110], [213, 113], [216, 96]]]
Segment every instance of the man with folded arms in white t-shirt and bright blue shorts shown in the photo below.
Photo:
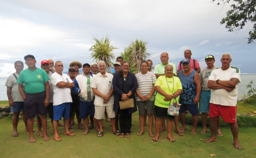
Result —
[[58, 120], [64, 119], [64, 135], [75, 136], [69, 132], [68, 121], [70, 116], [70, 103], [72, 102], [70, 88], [74, 87], [73, 81], [67, 74], [62, 73], [63, 64], [60, 61], [55, 62], [54, 66], [56, 72], [52, 74], [52, 87], [53, 87], [53, 131], [54, 140], [61, 141], [58, 136]]

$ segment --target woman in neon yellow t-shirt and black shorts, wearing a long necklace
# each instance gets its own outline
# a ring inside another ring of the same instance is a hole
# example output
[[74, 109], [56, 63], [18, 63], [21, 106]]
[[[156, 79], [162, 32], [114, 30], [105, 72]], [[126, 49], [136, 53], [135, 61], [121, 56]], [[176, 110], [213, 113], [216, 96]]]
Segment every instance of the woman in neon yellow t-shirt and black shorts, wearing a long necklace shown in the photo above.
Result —
[[[169, 108], [170, 101], [172, 103], [175, 102], [174, 96], [178, 101], [178, 96], [182, 93], [182, 85], [180, 79], [172, 75], [172, 65], [166, 65], [165, 75], [158, 77], [157, 82], [155, 83], [155, 90], [157, 91], [154, 103], [156, 110], [156, 135], [154, 136], [153, 141], [158, 141], [160, 128], [165, 118], [167, 120], [167, 138], [171, 142], [175, 141], [172, 137], [172, 127], [175, 116], [167, 115], [167, 110]], [[180, 131], [178, 124], [176, 124], [176, 129]]]

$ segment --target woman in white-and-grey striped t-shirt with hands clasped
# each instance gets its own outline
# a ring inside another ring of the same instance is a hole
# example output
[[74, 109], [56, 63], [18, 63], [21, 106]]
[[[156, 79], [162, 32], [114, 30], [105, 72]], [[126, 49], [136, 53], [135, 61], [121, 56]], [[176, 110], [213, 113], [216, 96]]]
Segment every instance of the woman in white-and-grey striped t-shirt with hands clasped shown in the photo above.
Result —
[[143, 135], [144, 131], [144, 114], [145, 114], [145, 106], [147, 108], [148, 113], [148, 126], [149, 126], [149, 136], [154, 137], [152, 132], [153, 127], [153, 107], [154, 107], [154, 83], [157, 81], [156, 76], [152, 72], [148, 72], [148, 62], [143, 61], [140, 64], [140, 73], [137, 73], [135, 76], [137, 78], [138, 87], [136, 90], [136, 101], [139, 108], [140, 114], [140, 133], [137, 135]]

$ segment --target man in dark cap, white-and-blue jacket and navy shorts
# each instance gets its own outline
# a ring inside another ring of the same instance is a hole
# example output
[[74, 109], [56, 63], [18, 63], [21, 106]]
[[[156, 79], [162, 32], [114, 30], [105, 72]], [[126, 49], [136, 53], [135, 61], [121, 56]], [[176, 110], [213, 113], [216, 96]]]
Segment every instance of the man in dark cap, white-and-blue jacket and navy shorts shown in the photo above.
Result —
[[[95, 108], [94, 108], [94, 97], [93, 89], [91, 87], [93, 77], [95, 76], [90, 72], [90, 64], [83, 65], [83, 75], [79, 75], [74, 79], [75, 87], [73, 87], [74, 93], [78, 93], [80, 98], [80, 118], [84, 121], [85, 131], [83, 135], [87, 135], [89, 133], [89, 112], [93, 117], [93, 122], [95, 122], [96, 131], [99, 131], [99, 125], [94, 118]], [[93, 125], [93, 122], [91, 126]]]

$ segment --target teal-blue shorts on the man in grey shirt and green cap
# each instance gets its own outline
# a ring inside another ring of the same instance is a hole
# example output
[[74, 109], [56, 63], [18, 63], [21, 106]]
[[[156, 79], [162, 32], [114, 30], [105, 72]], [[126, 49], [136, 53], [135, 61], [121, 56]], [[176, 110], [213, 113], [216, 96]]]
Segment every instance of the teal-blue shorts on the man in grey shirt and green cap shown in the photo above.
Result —
[[201, 90], [199, 98], [199, 111], [209, 113], [211, 90]]

